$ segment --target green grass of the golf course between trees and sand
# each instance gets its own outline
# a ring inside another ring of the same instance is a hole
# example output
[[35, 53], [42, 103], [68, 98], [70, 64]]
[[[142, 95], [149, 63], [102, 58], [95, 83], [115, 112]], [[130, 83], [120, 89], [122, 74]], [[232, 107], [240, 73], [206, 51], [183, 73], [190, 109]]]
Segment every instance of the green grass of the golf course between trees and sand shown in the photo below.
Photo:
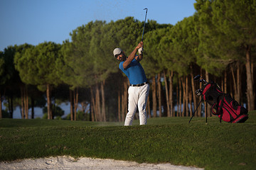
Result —
[[256, 111], [245, 123], [217, 117], [150, 118], [148, 125], [68, 120], [0, 120], [0, 161], [70, 155], [169, 162], [205, 169], [255, 169]]

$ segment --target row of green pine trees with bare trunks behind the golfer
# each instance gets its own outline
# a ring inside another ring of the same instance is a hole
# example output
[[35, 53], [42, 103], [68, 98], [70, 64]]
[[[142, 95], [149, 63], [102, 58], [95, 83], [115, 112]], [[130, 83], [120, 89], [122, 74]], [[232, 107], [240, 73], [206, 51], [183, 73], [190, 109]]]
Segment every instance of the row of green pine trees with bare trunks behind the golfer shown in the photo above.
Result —
[[[200, 99], [196, 74], [217, 81], [254, 110], [255, 0], [198, 0], [194, 5], [197, 12], [175, 26], [146, 23], [141, 63], [151, 84], [149, 116], [191, 115]], [[9, 101], [12, 115], [13, 99], [19, 98], [22, 118], [28, 118], [28, 108], [43, 106], [42, 98], [47, 98], [51, 119], [57, 99], [70, 102], [70, 120], [77, 120], [80, 104], [83, 111], [90, 107], [92, 121], [124, 121], [129, 81], [112, 50], [121, 47], [129, 55], [141, 39], [143, 24], [132, 17], [92, 21], [73, 30], [71, 41], [63, 45], [7, 47], [0, 52], [1, 103], [3, 97]]]

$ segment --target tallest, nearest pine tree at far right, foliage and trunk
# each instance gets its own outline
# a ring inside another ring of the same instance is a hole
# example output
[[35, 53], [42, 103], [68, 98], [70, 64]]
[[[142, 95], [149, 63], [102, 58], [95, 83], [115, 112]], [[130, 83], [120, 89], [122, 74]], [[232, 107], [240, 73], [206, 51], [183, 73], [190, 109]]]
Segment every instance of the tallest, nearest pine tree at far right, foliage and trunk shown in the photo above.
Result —
[[[252, 49], [256, 45], [255, 0], [198, 0], [195, 8], [199, 16], [201, 43], [198, 49], [201, 49], [200, 53], [203, 56], [202, 65], [205, 65], [210, 73], [218, 72], [220, 75], [231, 62], [245, 63], [247, 101], [250, 103], [248, 109], [255, 109], [251, 65], [255, 62], [251, 57]], [[215, 69], [209, 67], [211, 65], [214, 65]]]

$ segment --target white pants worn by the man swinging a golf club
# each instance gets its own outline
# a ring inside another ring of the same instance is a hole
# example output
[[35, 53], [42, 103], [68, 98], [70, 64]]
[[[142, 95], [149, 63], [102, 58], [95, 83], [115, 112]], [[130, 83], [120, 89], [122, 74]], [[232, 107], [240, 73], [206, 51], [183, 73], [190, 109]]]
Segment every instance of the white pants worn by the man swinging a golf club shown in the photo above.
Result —
[[124, 125], [132, 125], [134, 114], [139, 110], [139, 125], [146, 125], [146, 101], [149, 96], [149, 84], [144, 86], [129, 86], [128, 113]]

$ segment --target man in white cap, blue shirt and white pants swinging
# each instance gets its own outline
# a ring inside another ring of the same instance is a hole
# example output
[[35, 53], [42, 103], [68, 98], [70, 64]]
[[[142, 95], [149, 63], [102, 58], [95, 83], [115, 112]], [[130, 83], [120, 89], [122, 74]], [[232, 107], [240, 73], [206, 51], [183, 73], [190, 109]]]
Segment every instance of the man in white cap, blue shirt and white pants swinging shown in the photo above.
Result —
[[[139, 55], [136, 55], [137, 52]], [[143, 58], [143, 42], [139, 42], [137, 47], [127, 57], [120, 48], [115, 48], [114, 57], [117, 58], [119, 69], [127, 75], [129, 79], [128, 89], [128, 113], [124, 125], [132, 125], [134, 114], [139, 110], [139, 125], [146, 125], [146, 101], [149, 96], [149, 82], [142, 65], [139, 63]]]

